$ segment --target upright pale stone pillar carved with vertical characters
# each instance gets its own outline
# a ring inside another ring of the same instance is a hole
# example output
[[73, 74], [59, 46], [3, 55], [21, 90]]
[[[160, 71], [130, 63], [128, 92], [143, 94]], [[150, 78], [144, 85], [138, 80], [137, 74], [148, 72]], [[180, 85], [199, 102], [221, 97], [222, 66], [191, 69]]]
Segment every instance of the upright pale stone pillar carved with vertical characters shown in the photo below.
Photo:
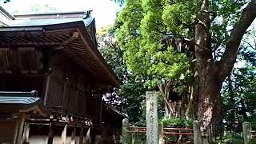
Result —
[[146, 92], [146, 144], [158, 144], [158, 102], [155, 91]]

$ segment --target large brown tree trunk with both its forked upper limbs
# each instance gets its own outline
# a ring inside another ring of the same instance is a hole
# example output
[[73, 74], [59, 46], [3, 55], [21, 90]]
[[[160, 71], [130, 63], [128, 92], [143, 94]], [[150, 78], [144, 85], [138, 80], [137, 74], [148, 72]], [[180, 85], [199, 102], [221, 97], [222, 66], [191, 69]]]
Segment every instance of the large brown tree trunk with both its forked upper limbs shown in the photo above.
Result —
[[219, 125], [222, 120], [222, 82], [234, 66], [242, 36], [256, 17], [256, 0], [250, 1], [242, 11], [240, 20], [231, 30], [226, 50], [218, 62], [212, 56], [209, 1], [202, 0], [200, 6], [198, 24], [195, 26], [194, 50], [198, 72], [198, 119], [202, 122], [201, 130], [209, 130], [210, 124]]

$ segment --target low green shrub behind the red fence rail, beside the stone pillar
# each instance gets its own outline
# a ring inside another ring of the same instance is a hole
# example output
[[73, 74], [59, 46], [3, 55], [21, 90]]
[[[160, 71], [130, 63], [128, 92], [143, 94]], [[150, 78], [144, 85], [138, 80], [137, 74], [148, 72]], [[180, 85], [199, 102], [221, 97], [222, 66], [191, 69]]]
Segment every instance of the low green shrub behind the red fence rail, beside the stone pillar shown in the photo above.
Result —
[[162, 119], [162, 124], [164, 127], [181, 127], [181, 128], [192, 128], [193, 120], [187, 118], [170, 118]]

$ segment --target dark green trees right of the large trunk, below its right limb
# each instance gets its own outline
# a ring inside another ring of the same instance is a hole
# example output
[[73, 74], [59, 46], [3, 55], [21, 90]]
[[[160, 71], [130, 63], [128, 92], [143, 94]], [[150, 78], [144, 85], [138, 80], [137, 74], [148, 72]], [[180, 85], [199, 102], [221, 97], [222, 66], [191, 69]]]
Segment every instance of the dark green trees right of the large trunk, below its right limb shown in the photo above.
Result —
[[[228, 130], [242, 131], [242, 122], [256, 118], [256, 31], [246, 34], [234, 70], [222, 87], [224, 119]], [[255, 123], [254, 123], [255, 124]], [[255, 126], [255, 125], [253, 125]]]

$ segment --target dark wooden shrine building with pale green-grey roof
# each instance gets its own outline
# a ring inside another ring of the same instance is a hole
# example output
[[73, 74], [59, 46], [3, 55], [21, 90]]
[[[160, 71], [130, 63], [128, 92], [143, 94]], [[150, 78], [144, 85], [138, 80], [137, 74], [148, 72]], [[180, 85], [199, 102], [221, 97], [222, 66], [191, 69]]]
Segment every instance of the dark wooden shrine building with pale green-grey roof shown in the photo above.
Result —
[[93, 143], [118, 79], [90, 12], [0, 18], [0, 143]]

